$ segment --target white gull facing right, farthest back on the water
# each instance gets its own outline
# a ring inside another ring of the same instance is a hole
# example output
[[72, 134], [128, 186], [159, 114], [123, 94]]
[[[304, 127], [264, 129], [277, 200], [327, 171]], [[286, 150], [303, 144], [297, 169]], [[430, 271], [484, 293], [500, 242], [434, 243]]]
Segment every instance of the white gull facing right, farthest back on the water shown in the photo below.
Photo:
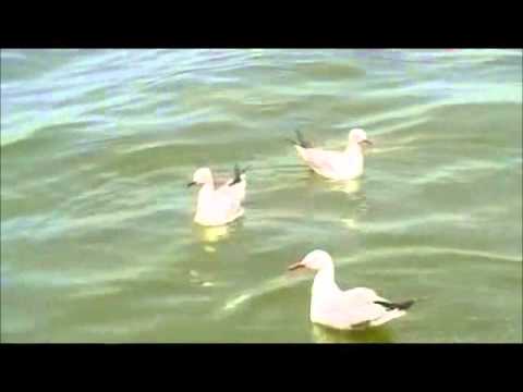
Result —
[[339, 181], [353, 180], [363, 174], [362, 145], [373, 144], [362, 128], [353, 128], [349, 132], [349, 144], [344, 151], [314, 147], [312, 143], [305, 140], [300, 131], [296, 131], [296, 136], [297, 139], [291, 139], [291, 142], [305, 163], [319, 175]]

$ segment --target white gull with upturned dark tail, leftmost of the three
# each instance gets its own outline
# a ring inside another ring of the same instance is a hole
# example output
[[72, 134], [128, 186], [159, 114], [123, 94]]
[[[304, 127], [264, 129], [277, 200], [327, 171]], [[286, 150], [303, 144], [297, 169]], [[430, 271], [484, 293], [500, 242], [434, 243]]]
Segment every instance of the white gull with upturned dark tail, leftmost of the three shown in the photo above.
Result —
[[198, 192], [194, 221], [206, 226], [223, 225], [244, 213], [242, 201], [245, 199], [245, 169], [234, 167], [234, 176], [222, 184], [215, 184], [209, 168], [199, 168], [194, 172], [193, 181], [187, 184], [202, 185]]

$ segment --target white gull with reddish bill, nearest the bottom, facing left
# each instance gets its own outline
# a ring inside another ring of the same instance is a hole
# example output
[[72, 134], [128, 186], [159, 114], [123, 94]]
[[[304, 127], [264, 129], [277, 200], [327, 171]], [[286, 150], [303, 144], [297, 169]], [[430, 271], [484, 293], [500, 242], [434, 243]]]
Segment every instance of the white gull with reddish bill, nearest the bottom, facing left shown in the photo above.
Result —
[[342, 291], [335, 281], [335, 265], [330, 255], [320, 249], [311, 252], [289, 270], [308, 268], [317, 271], [311, 299], [311, 321], [338, 330], [381, 326], [404, 316], [414, 301], [393, 303], [367, 287]]

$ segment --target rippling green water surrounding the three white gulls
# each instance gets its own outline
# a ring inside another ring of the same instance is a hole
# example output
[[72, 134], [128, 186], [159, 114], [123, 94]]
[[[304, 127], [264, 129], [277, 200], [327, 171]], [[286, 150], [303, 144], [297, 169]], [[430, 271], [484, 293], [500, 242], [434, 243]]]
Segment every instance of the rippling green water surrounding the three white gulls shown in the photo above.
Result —
[[[332, 184], [284, 142], [375, 142]], [[245, 217], [193, 222], [194, 170], [252, 164]], [[2, 342], [522, 342], [521, 50], [2, 50]], [[308, 321], [343, 289], [419, 298]]]

